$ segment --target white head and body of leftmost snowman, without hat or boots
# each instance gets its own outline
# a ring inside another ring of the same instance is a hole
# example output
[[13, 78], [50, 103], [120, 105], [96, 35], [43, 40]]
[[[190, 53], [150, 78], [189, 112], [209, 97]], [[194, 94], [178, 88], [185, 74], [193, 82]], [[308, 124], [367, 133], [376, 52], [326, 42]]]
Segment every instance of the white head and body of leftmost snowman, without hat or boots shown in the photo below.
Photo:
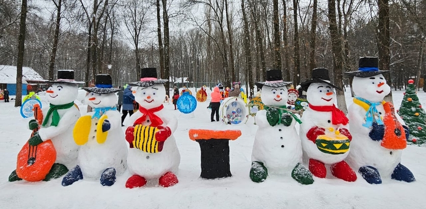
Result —
[[[46, 91], [47, 101], [52, 105], [65, 105], [73, 102], [77, 98], [78, 89], [74, 84], [58, 83], [52, 84]], [[68, 109], [58, 110], [60, 121], [57, 126], [51, 126], [52, 117], [46, 118], [50, 107], [42, 108], [43, 122], [47, 120], [45, 126], [41, 126], [38, 133], [41, 140], [51, 140], [56, 149], [55, 163], [63, 164], [67, 168], [72, 168], [77, 164], [78, 145], [72, 137], [72, 130], [75, 122], [81, 116], [79, 110], [72, 106]]]

